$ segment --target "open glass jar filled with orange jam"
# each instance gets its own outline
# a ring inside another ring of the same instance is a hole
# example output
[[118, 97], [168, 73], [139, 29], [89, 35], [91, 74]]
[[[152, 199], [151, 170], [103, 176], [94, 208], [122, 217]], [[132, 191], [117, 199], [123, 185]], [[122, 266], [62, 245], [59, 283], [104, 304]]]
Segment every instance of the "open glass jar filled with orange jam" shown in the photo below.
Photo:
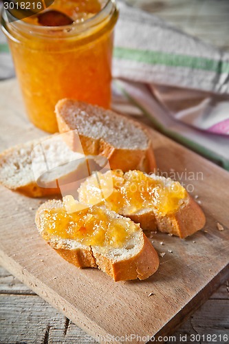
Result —
[[109, 108], [113, 27], [118, 19], [114, 0], [55, 0], [73, 23], [43, 26], [37, 14], [8, 21], [3, 32], [21, 85], [25, 108], [36, 127], [58, 131], [54, 107], [61, 98], [76, 98]]

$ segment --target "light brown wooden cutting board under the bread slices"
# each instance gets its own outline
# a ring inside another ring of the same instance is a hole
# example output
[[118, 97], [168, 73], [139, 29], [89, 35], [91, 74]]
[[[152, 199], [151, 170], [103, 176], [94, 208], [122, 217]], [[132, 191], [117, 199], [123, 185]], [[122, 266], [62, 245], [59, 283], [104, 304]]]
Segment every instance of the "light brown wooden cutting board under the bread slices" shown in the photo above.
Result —
[[[1, 150], [45, 135], [23, 113], [15, 81], [1, 83]], [[1, 187], [0, 263], [91, 336], [105, 336], [107, 342], [110, 336], [138, 334], [131, 343], [146, 343], [147, 336], [171, 333], [229, 277], [229, 173], [160, 133], [151, 134], [159, 169], [194, 189], [207, 224], [184, 240], [151, 235], [157, 252], [165, 255], [146, 281], [115, 283], [96, 269], [68, 264], [37, 233], [34, 215], [41, 200]]]

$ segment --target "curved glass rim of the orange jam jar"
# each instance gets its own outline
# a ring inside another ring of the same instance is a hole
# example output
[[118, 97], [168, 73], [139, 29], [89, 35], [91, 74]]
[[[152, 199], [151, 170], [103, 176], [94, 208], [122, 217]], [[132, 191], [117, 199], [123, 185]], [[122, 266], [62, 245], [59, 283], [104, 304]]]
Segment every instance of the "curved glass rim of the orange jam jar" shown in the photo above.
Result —
[[[89, 28], [94, 28], [97, 25], [100, 25], [103, 21], [105, 21], [108, 17], [111, 17], [114, 12], [118, 10], [116, 0], [107, 0], [105, 3], [105, 6], [102, 7], [102, 9], [96, 13], [93, 17], [86, 19], [82, 22], [74, 22], [69, 25], [61, 25], [61, 26], [42, 26], [42, 25], [36, 25], [32, 23], [28, 23], [23, 20], [17, 20], [17, 21], [9, 21], [8, 15], [6, 14], [6, 10], [3, 8], [0, 12], [0, 18], [3, 19], [3, 21], [7, 25], [17, 25], [17, 28], [20, 28], [23, 30], [32, 30], [32, 32], [36, 32], [36, 34], [49, 34], [52, 36], [55, 32], [68, 32], [69, 34], [80, 34], [84, 32], [85, 30], [88, 30]], [[16, 26], [15, 25], [15, 26]]]

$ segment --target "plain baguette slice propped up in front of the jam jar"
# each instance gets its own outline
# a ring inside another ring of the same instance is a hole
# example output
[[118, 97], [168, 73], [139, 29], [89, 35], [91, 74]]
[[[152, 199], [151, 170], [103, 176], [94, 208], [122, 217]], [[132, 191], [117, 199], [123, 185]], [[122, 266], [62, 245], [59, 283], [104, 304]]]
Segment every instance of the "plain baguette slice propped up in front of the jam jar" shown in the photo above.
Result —
[[[61, 133], [77, 129], [85, 155], [104, 155], [111, 169], [154, 171], [151, 138], [140, 123], [71, 99], [57, 103], [56, 119]], [[74, 133], [72, 135], [72, 148], [76, 149]]]

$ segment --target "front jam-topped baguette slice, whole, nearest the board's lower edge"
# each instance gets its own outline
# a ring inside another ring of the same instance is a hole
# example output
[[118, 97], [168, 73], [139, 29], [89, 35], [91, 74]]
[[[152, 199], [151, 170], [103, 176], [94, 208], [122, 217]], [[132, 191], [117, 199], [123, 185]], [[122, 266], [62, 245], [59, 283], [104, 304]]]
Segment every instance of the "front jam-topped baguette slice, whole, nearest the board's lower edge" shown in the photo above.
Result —
[[157, 252], [139, 224], [98, 206], [72, 213], [66, 208], [61, 201], [45, 202], [36, 212], [36, 226], [69, 263], [98, 268], [115, 281], [146, 279], [157, 270]]

